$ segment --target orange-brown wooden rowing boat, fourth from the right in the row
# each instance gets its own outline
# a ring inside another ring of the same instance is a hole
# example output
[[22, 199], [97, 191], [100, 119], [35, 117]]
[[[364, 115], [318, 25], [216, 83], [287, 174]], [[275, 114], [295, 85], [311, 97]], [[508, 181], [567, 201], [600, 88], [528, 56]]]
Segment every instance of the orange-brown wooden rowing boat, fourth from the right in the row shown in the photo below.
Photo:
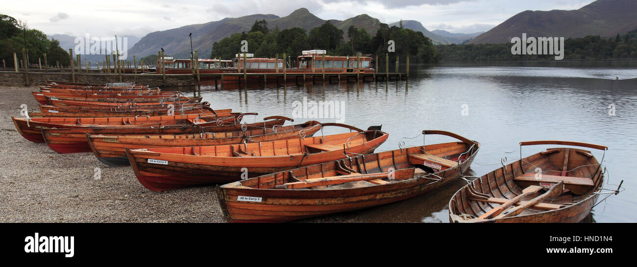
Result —
[[130, 165], [126, 148], [192, 147], [204, 145], [230, 145], [243, 142], [263, 142], [312, 136], [321, 129], [320, 122], [311, 120], [303, 124], [247, 131], [199, 134], [87, 134], [90, 149], [97, 159], [109, 166]]

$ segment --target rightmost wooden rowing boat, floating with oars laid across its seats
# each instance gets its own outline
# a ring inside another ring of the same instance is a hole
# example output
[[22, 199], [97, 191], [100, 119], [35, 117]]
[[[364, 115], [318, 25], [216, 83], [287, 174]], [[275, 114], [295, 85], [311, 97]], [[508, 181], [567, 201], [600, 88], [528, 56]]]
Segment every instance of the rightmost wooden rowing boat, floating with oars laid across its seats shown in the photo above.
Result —
[[[608, 149], [573, 141], [522, 142], [520, 149], [526, 145]], [[548, 148], [497, 168], [455, 192], [449, 201], [449, 220], [579, 222], [598, 199], [604, 169], [588, 150]]]

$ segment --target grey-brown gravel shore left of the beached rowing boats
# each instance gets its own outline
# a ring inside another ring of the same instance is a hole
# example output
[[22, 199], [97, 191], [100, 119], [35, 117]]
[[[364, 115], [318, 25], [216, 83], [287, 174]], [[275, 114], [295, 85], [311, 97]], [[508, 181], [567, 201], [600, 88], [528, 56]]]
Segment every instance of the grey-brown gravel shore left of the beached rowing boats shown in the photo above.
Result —
[[129, 167], [22, 138], [11, 116], [39, 110], [34, 90], [0, 88], [0, 222], [225, 222], [214, 186], [152, 192]]

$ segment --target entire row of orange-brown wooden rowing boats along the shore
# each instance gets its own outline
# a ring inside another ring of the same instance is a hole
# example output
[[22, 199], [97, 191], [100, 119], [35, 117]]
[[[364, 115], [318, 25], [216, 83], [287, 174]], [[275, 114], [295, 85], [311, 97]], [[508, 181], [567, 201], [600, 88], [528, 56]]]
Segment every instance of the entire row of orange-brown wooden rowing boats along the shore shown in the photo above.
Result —
[[[458, 141], [375, 153], [389, 136], [377, 126], [294, 124], [281, 116], [247, 123], [246, 116], [257, 114], [213, 110], [200, 98], [175, 92], [167, 99], [159, 89], [132, 84], [48, 83], [34, 96], [45, 92], [48, 105], [39, 113], [12, 118], [27, 140], [59, 153], [93, 152], [110, 166], [130, 164], [152, 191], [217, 184], [230, 222], [285, 222], [359, 210], [431, 192], [458, 178], [468, 184], [450, 199], [451, 222], [578, 222], [603, 194], [605, 168], [581, 148], [548, 148], [468, 180], [465, 173], [480, 143], [447, 131], [422, 134]], [[85, 105], [50, 101], [62, 96], [83, 98]], [[122, 99], [142, 100], [122, 105]], [[322, 134], [328, 126], [348, 133]], [[607, 149], [571, 141], [522, 142], [520, 148], [527, 145]]]

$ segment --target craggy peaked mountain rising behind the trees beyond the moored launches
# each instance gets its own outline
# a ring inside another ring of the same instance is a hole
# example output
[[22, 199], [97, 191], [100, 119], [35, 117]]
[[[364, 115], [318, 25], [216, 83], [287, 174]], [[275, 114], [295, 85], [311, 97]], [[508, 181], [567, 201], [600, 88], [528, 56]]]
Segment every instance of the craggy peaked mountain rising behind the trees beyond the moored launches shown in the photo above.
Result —
[[[205, 24], [186, 25], [166, 31], [156, 31], [147, 34], [129, 50], [130, 55], [147, 56], [155, 55], [164, 48], [167, 55], [187, 58], [190, 56], [190, 39], [188, 34], [192, 32], [192, 49], [199, 51], [199, 57], [208, 57], [215, 41], [222, 40], [234, 33], [250, 31], [255, 20], [266, 20], [269, 29], [289, 29], [300, 27], [310, 29], [320, 26], [327, 20], [318, 18], [306, 8], [299, 8], [285, 17], [276, 15], [255, 14], [239, 18], [224, 18]], [[347, 20], [329, 20], [334, 26], [343, 30], [343, 38], [347, 40], [347, 28], [354, 25], [364, 28], [370, 35], [376, 34], [380, 27], [380, 21], [368, 15], [358, 15]]]

